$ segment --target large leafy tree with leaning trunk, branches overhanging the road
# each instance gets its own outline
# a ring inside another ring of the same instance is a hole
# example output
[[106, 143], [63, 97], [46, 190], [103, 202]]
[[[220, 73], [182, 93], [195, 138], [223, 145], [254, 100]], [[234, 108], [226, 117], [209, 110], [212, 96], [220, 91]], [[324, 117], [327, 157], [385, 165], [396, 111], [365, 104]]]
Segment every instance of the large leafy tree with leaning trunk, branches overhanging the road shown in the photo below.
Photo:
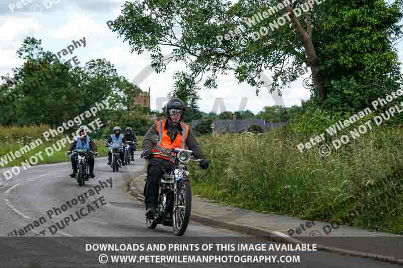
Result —
[[[350, 94], [354, 79], [358, 79], [362, 74], [349, 76], [343, 67], [347, 64], [348, 72], [356, 73], [352, 63], [359, 55], [354, 51], [359, 50], [364, 51], [366, 55], [363, 60], [355, 61], [362, 64], [362, 69], [367, 70], [362, 79], [378, 79], [376, 70], [382, 68], [380, 66], [387, 67], [382, 72], [383, 76], [381, 75], [382, 83], [387, 83], [385, 75], [395, 77], [396, 74], [396, 70], [391, 66], [393, 62], [386, 63], [393, 55], [385, 51], [390, 51], [385, 42], [387, 33], [398, 28], [396, 24], [401, 17], [401, 0], [389, 7], [386, 7], [383, 0], [333, 0], [320, 5], [315, 2], [299, 17], [292, 10], [306, 3], [306, 0], [297, 0], [293, 4], [281, 0], [240, 0], [235, 4], [221, 0], [146, 2], [150, 9], [158, 14], [157, 20], [143, 14], [137, 3], [126, 2], [122, 14], [114, 21], [113, 31], [122, 36], [133, 51], [141, 54], [146, 49], [150, 50], [153, 67], [157, 72], [163, 71], [172, 60], [182, 61], [186, 63], [190, 77], [208, 73], [204, 85], [209, 88], [217, 87], [218, 73], [228, 74], [233, 71], [239, 82], [249, 83], [258, 93], [264, 84], [260, 73], [270, 68], [274, 69], [271, 91], [277, 90], [281, 93], [281, 89], [287, 84], [283, 85], [279, 78], [292, 75], [305, 62], [311, 68], [313, 92], [317, 103], [322, 103], [328, 93], [337, 95], [332, 91], [333, 86], [343, 88], [345, 95]], [[285, 7], [283, 3], [287, 3]], [[367, 3], [370, 5], [366, 5]], [[250, 19], [257, 13], [274, 7], [277, 7], [279, 12], [266, 19]], [[277, 22], [278, 18], [286, 13], [289, 14], [290, 23], [273, 27], [273, 22]], [[247, 22], [250, 28], [242, 27], [243, 22]], [[269, 29], [268, 34], [256, 41], [251, 40], [250, 34], [258, 32], [261, 27]], [[239, 28], [247, 30], [234, 32]], [[230, 40], [224, 39], [224, 35], [229, 31], [232, 31], [227, 35], [231, 36]], [[221, 39], [218, 40], [217, 36], [221, 36]], [[247, 39], [249, 46], [240, 47], [238, 40], [241, 38]], [[161, 46], [172, 47], [174, 55], [164, 59]], [[357, 55], [351, 57], [351, 52]], [[371, 67], [373, 64], [370, 62], [370, 55], [373, 53], [379, 53], [379, 57], [375, 56], [376, 62], [383, 63], [375, 69]], [[393, 61], [395, 58], [396, 56]], [[339, 64], [333, 66], [330, 59], [338, 61]], [[362, 89], [359, 88], [357, 92], [368, 98]]]

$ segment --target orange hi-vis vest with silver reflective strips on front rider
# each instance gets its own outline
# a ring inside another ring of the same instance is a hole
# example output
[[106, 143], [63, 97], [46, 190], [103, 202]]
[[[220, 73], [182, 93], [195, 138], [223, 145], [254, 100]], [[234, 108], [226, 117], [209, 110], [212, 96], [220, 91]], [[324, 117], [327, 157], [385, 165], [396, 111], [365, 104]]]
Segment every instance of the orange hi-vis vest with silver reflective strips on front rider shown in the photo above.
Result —
[[[180, 123], [180, 125], [182, 126], [182, 133], [178, 133], [175, 140], [171, 142], [171, 138], [168, 136], [168, 130], [165, 129], [166, 121], [167, 120], [165, 119], [156, 122], [157, 132], [161, 141], [161, 147], [163, 149], [173, 149], [173, 148], [186, 149], [185, 147], [186, 147], [187, 135], [189, 134], [189, 125]], [[153, 148], [153, 153], [165, 154], [162, 150], [158, 150], [158, 148], [155, 147]], [[169, 160], [169, 157], [163, 155], [154, 154], [154, 157], [161, 157]]]

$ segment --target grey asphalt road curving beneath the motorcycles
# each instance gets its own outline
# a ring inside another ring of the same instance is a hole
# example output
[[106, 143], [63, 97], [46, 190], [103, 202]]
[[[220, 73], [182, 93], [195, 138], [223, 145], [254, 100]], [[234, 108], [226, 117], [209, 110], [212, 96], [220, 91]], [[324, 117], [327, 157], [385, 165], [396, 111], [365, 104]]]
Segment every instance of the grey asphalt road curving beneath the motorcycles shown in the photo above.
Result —
[[[266, 243], [256, 237], [247, 237], [228, 230], [190, 222], [183, 237], [172, 233], [171, 227], [145, 227], [144, 205], [131, 201], [125, 186], [143, 171], [144, 161], [136, 152], [136, 161], [114, 173], [105, 158], [96, 160], [96, 178], [79, 187], [70, 178], [70, 162], [34, 166], [0, 186], [0, 267], [117, 267], [133, 264], [100, 264], [100, 251], [86, 251], [88, 243]], [[100, 184], [100, 182], [103, 182]], [[110, 187], [110, 182], [112, 187]], [[103, 186], [103, 188], [102, 188]], [[81, 203], [83, 201], [83, 203]], [[90, 204], [90, 207], [88, 207]], [[54, 208], [54, 209], [53, 209]], [[60, 214], [58, 213], [60, 209]], [[32, 227], [27, 227], [32, 224]], [[67, 225], [68, 224], [68, 225]], [[54, 227], [51, 227], [54, 226]], [[25, 228], [25, 231], [24, 231]], [[15, 231], [14, 231], [15, 230]], [[20, 231], [22, 230], [22, 231]], [[23, 235], [19, 235], [22, 232]], [[8, 234], [13, 233], [13, 236]], [[275, 244], [275, 243], [273, 243]], [[141, 254], [165, 254], [141, 252]], [[215, 252], [223, 254], [223, 252]], [[212, 254], [212, 252], [210, 252]], [[107, 254], [139, 254], [139, 252], [106, 252]], [[195, 251], [170, 251], [167, 254], [201, 254]], [[225, 252], [224, 252], [225, 253]], [[234, 252], [232, 252], [234, 253]], [[239, 252], [238, 252], [239, 253]], [[261, 252], [245, 253], [260, 254]], [[207, 254], [207, 253], [206, 253]], [[298, 267], [391, 267], [394, 264], [343, 256], [322, 251], [269, 252], [266, 254], [300, 255], [299, 263], [197, 263], [197, 266], [298, 266]], [[108, 255], [110, 258], [110, 256]], [[278, 259], [277, 259], [278, 260]], [[276, 261], [277, 261], [276, 260]], [[276, 262], [275, 261], [275, 262]], [[35, 266], [35, 262], [39, 263]], [[20, 265], [20, 266], [19, 266]], [[145, 263], [136, 266], [177, 267], [185, 263]]]

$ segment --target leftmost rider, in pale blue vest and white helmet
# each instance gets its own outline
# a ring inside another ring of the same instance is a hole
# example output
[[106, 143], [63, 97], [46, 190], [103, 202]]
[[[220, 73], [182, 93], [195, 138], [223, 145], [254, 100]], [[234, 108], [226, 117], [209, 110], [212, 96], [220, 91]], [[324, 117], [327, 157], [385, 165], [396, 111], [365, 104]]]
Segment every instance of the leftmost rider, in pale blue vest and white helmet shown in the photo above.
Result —
[[[87, 133], [89, 132], [87, 126], [81, 126], [80, 127], [80, 137], [75, 137], [74, 142], [70, 145], [69, 151], [73, 150], [86, 150], [90, 149], [94, 153], [97, 153], [97, 144], [90, 138], [88, 137]], [[76, 177], [77, 173], [77, 155], [72, 156], [72, 167], [73, 167], [73, 173], [70, 174], [71, 177]], [[89, 154], [88, 156], [88, 163], [90, 164], [90, 177], [95, 177], [94, 175], [94, 156], [92, 154]]]

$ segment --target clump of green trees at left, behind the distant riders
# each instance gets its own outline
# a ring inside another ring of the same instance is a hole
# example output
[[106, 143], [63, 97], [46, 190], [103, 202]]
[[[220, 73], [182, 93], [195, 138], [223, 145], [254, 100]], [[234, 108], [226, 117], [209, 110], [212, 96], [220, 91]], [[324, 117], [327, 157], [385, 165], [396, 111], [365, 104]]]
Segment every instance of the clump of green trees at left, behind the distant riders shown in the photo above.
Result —
[[[127, 107], [140, 90], [119, 76], [106, 59], [91, 60], [84, 68], [73, 69], [55, 60], [35, 38], [27, 37], [17, 54], [24, 60], [22, 66], [15, 68], [13, 75], [1, 77], [0, 95], [14, 98], [0, 107], [2, 125], [58, 126], [106, 99], [111, 109]], [[97, 113], [104, 122], [105, 115], [105, 110]]]

